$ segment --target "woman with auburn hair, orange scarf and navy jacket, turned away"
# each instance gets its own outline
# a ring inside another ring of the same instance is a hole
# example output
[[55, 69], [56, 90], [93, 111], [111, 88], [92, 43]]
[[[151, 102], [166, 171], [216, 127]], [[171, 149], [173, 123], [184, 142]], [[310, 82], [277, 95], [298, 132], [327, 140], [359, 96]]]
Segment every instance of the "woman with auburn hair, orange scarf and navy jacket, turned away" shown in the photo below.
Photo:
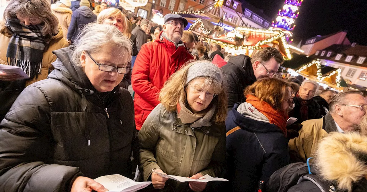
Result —
[[248, 86], [246, 102], [236, 103], [226, 118], [228, 191], [253, 192], [277, 169], [288, 165], [287, 119], [290, 84], [277, 78]]

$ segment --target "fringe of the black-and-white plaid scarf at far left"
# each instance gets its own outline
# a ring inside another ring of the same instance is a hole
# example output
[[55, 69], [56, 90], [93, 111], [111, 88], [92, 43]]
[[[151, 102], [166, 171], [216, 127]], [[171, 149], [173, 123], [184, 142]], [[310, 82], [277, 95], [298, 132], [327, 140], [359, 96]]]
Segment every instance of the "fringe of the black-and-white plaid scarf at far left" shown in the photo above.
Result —
[[40, 63], [32, 63], [29, 60], [22, 61], [20, 59], [12, 59], [9, 58], [10, 63], [9, 65], [17, 66], [24, 71], [30, 79], [33, 79], [34, 77], [38, 78], [38, 74], [41, 74], [42, 69], [42, 61]]

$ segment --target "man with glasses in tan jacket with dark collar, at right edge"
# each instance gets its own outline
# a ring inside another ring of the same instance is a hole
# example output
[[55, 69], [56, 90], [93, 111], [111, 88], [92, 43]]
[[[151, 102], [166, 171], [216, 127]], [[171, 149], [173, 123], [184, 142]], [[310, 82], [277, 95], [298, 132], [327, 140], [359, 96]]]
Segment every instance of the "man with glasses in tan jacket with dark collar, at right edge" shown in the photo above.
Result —
[[317, 144], [328, 133], [347, 133], [359, 129], [366, 114], [367, 101], [360, 91], [339, 93], [330, 99], [329, 113], [323, 118], [302, 123], [298, 138], [291, 139], [288, 146], [291, 154], [297, 154], [293, 161], [304, 161], [316, 150]]

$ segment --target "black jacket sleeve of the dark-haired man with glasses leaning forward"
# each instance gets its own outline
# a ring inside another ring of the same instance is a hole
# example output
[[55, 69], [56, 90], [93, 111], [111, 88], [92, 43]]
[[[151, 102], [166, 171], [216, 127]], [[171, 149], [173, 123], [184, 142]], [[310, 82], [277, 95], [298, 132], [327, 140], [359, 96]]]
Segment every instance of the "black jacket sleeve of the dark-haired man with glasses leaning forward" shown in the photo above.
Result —
[[[227, 105], [227, 111], [230, 111], [235, 103], [241, 101], [240, 95], [243, 93], [240, 93], [239, 87], [240, 87], [240, 79], [239, 79], [239, 73], [241, 73], [240, 69], [233, 64], [226, 64], [222, 67], [224, 71], [224, 88], [227, 92], [228, 97], [228, 105]], [[241, 90], [243, 91], [243, 90]]]

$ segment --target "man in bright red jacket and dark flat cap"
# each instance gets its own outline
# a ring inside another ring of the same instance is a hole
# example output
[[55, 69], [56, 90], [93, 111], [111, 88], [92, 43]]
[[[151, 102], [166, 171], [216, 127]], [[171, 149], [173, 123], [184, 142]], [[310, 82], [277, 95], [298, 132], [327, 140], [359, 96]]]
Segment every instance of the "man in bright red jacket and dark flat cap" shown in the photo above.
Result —
[[186, 61], [193, 59], [181, 41], [187, 24], [181, 15], [167, 14], [157, 39], [144, 44], [139, 51], [131, 76], [137, 130], [160, 103], [158, 94], [166, 80]]

